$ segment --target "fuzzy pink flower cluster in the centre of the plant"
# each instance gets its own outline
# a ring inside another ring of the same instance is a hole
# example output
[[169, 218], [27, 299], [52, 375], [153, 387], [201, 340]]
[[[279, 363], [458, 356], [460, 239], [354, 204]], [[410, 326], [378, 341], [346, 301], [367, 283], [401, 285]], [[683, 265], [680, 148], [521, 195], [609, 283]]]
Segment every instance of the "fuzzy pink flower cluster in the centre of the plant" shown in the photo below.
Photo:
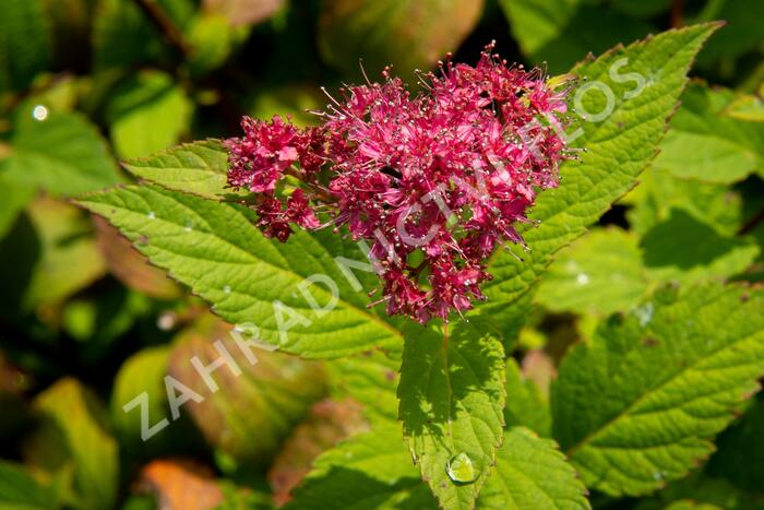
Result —
[[522, 244], [516, 225], [571, 157], [568, 90], [492, 49], [420, 75], [416, 95], [389, 71], [343, 88], [319, 128], [244, 118], [244, 137], [227, 141], [229, 185], [254, 193], [266, 236], [346, 225], [369, 241], [389, 313], [426, 322], [471, 308], [487, 258]]

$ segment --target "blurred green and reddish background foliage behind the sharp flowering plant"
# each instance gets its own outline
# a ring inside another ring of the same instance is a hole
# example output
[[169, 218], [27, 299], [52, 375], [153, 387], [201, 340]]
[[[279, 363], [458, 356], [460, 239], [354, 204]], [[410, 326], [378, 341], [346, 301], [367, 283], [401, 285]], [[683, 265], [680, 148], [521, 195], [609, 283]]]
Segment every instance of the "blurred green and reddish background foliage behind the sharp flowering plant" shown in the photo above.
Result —
[[[171, 419], [165, 377], [207, 391], [188, 360], [212, 363], [218, 339], [234, 351], [230, 327], [70, 199], [134, 181], [120, 161], [235, 135], [242, 115], [311, 123], [306, 110], [326, 102], [320, 86], [336, 90], [363, 72], [374, 80], [387, 64], [411, 79], [449, 51], [473, 62], [496, 39], [508, 60], [558, 74], [588, 52], [709, 20], [728, 25], [699, 56], [660, 154], [640, 186], [554, 256], [520, 341], [508, 343], [520, 363], [508, 360], [516, 400], [505, 420], [544, 437], [544, 381], [571, 343], [607, 334], [595, 328], [600, 319], [638, 310], [667, 283], [763, 280], [764, 2], [1, 0], [0, 508], [270, 508], [284, 479], [297, 485], [315, 455], [369, 424], [378, 424], [372, 432], [319, 459], [302, 494], [331, 497], [322, 479], [335, 493], [357, 489], [351, 498], [394, 486], [391, 506], [431, 508], [415, 469], [369, 482], [338, 467], [350, 453], [360, 464], [385, 463], [374, 448], [399, 440], [387, 425], [397, 415], [399, 349], [332, 361], [258, 352], [244, 376], [220, 377], [214, 398]], [[140, 161], [131, 167], [152, 179]], [[198, 191], [208, 186], [219, 182]], [[150, 425], [169, 420], [148, 441], [140, 413], [123, 411], [143, 391]], [[351, 399], [362, 416], [329, 406], [317, 418], [325, 399]], [[737, 412], [718, 452], [691, 477], [654, 481], [660, 489], [642, 499], [594, 491], [592, 505], [764, 507], [762, 401]], [[359, 425], [336, 426], [346, 420]], [[501, 455], [568, 470], [550, 443], [530, 444], [527, 434], [514, 429]], [[290, 464], [300, 441], [311, 453]], [[500, 488], [494, 481], [487, 490], [496, 498]]]

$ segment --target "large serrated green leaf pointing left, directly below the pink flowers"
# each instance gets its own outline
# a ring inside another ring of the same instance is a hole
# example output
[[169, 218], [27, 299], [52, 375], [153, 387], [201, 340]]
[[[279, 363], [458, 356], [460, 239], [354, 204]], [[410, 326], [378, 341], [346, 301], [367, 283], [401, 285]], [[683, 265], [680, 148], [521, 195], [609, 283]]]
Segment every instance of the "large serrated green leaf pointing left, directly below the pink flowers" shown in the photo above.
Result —
[[[284, 352], [336, 357], [399, 343], [391, 319], [367, 308], [362, 287], [372, 288], [377, 275], [337, 261], [367, 262], [356, 246], [331, 232], [299, 232], [286, 244], [272, 241], [246, 207], [152, 186], [93, 193], [80, 203], [212, 303], [223, 319], [254, 322], [261, 339]], [[321, 274], [337, 285], [334, 308], [329, 307], [334, 299], [327, 280], [315, 276]]]

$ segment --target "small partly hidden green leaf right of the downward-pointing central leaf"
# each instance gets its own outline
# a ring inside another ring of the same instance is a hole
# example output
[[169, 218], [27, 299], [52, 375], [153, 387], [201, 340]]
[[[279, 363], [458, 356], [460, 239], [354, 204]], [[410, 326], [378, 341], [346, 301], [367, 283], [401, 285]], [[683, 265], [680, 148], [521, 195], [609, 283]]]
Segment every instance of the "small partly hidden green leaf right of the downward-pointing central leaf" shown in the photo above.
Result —
[[523, 426], [542, 437], [551, 436], [549, 402], [536, 383], [523, 376], [514, 358], [506, 359], [504, 423], [506, 428]]

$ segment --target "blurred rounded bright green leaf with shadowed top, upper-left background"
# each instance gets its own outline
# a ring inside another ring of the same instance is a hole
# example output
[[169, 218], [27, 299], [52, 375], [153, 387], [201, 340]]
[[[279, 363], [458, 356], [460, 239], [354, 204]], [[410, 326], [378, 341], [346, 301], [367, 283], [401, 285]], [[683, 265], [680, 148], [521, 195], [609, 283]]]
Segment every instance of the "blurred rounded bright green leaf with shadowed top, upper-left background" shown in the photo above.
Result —
[[146, 156], [177, 143], [192, 108], [169, 74], [145, 71], [132, 75], [114, 92], [107, 108], [117, 154]]

